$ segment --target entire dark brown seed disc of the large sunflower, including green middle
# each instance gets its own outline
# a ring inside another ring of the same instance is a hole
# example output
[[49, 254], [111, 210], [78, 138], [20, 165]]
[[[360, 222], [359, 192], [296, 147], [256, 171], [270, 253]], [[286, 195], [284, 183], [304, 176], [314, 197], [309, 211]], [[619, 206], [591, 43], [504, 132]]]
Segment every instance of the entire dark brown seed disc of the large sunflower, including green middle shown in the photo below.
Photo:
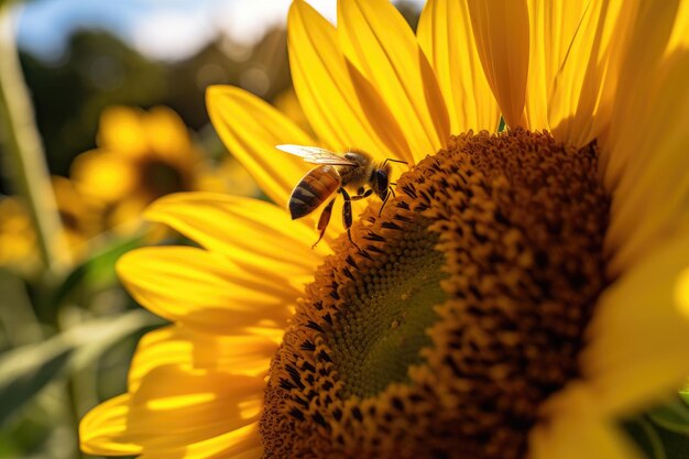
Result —
[[462, 134], [318, 270], [277, 352], [266, 457], [522, 458], [605, 285], [595, 146]]

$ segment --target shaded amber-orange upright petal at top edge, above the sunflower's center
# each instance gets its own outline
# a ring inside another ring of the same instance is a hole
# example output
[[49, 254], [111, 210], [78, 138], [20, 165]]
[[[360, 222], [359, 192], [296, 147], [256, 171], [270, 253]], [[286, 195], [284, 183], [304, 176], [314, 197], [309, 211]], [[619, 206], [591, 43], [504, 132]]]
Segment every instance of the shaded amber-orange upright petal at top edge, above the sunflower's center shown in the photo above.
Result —
[[526, 0], [469, 1], [471, 25], [483, 72], [511, 128], [525, 127], [528, 74]]

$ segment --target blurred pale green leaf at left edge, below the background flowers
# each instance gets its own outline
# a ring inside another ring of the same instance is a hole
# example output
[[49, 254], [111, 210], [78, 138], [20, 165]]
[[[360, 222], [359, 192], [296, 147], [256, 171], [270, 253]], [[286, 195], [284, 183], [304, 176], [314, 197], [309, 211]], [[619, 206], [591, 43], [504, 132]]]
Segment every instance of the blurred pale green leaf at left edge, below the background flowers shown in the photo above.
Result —
[[0, 426], [50, 382], [79, 371], [134, 331], [161, 324], [160, 318], [138, 309], [94, 319], [41, 343], [6, 352], [0, 358]]

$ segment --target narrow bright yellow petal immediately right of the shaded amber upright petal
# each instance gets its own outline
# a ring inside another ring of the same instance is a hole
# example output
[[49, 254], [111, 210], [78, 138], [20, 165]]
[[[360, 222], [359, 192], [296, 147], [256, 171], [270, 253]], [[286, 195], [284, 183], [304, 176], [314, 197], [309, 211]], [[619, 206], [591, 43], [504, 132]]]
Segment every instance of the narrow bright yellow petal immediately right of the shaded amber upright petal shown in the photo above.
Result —
[[528, 2], [531, 39], [526, 118], [532, 131], [549, 129], [548, 97], [587, 4], [586, 1]]

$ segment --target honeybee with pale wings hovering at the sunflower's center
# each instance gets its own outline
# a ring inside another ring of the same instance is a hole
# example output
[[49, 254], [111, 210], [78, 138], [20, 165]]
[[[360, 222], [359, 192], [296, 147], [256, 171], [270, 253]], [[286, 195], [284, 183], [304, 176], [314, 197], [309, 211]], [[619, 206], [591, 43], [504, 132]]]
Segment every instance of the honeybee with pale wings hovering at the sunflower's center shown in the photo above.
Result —
[[[307, 163], [320, 164], [307, 172], [292, 190], [287, 207], [293, 220], [309, 215], [332, 196], [318, 219], [317, 228], [320, 234], [313, 247], [316, 247], [326, 233], [337, 194], [341, 194], [344, 199], [342, 222], [347, 229], [349, 241], [358, 248], [350, 232], [352, 226], [351, 201], [364, 199], [375, 194], [383, 201], [379, 211], [380, 215], [390, 195], [394, 196], [395, 194], [391, 186], [394, 184], [390, 182], [390, 163], [407, 164], [406, 161], [392, 159], [376, 163], [369, 153], [358, 149], [335, 153], [317, 146], [276, 145], [275, 147], [299, 156]], [[347, 189], [352, 192], [351, 196]]]

